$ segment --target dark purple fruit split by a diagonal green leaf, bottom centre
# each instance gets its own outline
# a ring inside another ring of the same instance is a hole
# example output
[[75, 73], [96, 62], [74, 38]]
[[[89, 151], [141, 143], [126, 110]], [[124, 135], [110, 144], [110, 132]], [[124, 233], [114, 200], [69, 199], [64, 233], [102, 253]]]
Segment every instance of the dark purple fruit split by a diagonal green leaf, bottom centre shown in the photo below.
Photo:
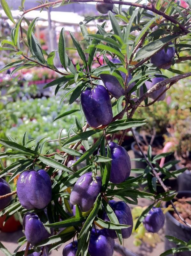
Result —
[[[115, 200], [109, 201], [109, 204], [113, 209], [113, 211], [115, 212], [115, 215], [119, 220], [119, 223], [131, 226], [129, 228], [121, 229], [123, 238], [130, 237], [133, 229], [133, 218], [132, 218], [132, 214], [129, 206], [125, 204], [123, 201], [116, 202]], [[103, 213], [102, 219], [105, 221], [110, 221], [106, 212]], [[117, 238], [117, 234], [114, 229], [107, 229], [107, 234], [111, 238], [114, 238], [114, 239]]]

